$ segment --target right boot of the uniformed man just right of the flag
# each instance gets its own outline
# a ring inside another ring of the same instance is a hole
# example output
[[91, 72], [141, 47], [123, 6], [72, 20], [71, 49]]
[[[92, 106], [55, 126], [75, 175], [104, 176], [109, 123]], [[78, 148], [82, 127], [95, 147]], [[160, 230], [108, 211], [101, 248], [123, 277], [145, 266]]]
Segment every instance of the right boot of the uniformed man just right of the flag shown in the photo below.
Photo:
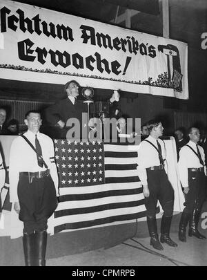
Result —
[[162, 216], [161, 218], [161, 236], [160, 242], [166, 243], [171, 247], [177, 247], [177, 243], [170, 239], [170, 225], [172, 221], [172, 216]]

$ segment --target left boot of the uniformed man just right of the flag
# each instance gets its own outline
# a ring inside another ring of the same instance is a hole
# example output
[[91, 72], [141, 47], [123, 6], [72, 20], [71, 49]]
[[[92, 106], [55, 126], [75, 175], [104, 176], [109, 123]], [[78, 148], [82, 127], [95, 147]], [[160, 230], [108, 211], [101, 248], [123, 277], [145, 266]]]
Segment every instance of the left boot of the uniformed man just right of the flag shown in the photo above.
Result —
[[157, 234], [157, 221], [155, 217], [147, 216], [148, 230], [150, 234], [150, 245], [156, 250], [163, 250], [162, 245], [159, 242], [159, 236]]

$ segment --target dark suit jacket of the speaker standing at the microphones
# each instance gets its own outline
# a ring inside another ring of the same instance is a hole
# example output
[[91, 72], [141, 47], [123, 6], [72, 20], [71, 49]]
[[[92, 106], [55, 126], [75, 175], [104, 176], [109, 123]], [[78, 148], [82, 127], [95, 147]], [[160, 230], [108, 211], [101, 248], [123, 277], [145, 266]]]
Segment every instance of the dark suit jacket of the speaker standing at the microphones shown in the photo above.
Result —
[[[82, 113], [87, 112], [86, 104], [83, 104], [81, 100], [77, 100], [77, 104], [74, 105], [68, 97], [63, 100], [59, 100], [56, 104], [53, 104], [46, 108], [45, 118], [46, 118], [46, 127], [48, 131], [45, 130], [45, 133], [52, 138], [66, 138], [68, 130], [73, 127], [66, 127], [67, 121], [70, 118], [76, 118], [82, 124]], [[60, 129], [57, 125], [57, 122], [62, 120], [65, 122], [65, 127]]]

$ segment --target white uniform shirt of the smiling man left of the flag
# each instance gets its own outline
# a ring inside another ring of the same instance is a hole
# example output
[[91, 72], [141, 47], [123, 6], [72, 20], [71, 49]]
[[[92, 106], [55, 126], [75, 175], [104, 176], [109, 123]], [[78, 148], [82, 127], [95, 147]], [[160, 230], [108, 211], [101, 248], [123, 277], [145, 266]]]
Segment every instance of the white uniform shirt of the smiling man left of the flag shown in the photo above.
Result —
[[[23, 134], [30, 140], [35, 147], [35, 134], [32, 131], [27, 131]], [[57, 167], [55, 165], [55, 150], [52, 139], [43, 133], [37, 133], [37, 139], [41, 145], [43, 160], [50, 169], [50, 175], [55, 183], [55, 189], [58, 194], [58, 175]], [[19, 182], [19, 172], [37, 172], [45, 171], [46, 167], [39, 167], [37, 163], [37, 153], [30, 147], [28, 142], [21, 136], [15, 138], [10, 149], [10, 166], [9, 166], [9, 180], [10, 180], [10, 202], [19, 201], [17, 196], [17, 185]]]

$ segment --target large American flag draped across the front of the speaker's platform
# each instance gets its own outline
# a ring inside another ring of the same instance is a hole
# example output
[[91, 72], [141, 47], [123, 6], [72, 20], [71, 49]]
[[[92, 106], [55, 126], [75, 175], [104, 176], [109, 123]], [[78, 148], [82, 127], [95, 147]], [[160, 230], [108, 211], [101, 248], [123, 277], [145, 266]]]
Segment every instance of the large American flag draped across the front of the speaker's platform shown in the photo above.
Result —
[[146, 216], [137, 147], [57, 139], [55, 155], [60, 183], [55, 233]]

